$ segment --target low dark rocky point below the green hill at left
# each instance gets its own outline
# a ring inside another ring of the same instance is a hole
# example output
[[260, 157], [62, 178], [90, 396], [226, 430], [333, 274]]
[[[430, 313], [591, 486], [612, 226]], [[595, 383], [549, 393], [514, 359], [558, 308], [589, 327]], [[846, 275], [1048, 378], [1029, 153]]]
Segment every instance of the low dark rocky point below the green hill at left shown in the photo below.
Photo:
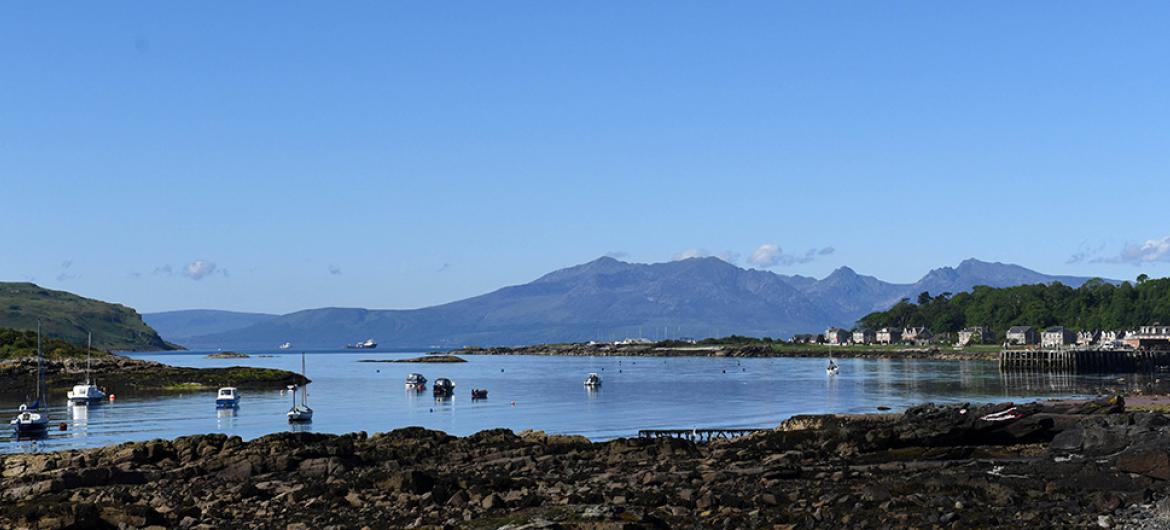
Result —
[[[191, 369], [170, 366], [152, 360], [133, 359], [118, 355], [95, 356], [91, 360], [92, 379], [109, 392], [218, 388], [283, 388], [303, 385], [308, 379], [284, 370], [229, 366]], [[63, 392], [85, 379], [85, 358], [44, 360], [44, 383], [50, 392]], [[0, 388], [5, 392], [27, 393], [36, 387], [36, 358], [28, 357], [0, 362]]]

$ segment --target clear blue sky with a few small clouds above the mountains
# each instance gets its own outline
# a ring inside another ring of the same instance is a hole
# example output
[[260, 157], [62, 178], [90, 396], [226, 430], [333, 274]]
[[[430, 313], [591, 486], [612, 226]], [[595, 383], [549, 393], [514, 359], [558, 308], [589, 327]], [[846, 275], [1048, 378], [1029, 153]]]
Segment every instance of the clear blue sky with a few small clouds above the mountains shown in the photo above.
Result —
[[1165, 20], [1152, 1], [7, 2], [0, 278], [284, 312], [429, 305], [605, 254], [1162, 276]]

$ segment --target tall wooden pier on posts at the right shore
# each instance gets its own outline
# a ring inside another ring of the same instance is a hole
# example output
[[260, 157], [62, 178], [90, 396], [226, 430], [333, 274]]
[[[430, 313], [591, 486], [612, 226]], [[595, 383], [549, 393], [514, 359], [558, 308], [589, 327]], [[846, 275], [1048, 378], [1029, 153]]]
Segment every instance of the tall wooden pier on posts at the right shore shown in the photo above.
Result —
[[1152, 372], [1170, 369], [1170, 350], [1003, 350], [1000, 370], [1087, 373]]

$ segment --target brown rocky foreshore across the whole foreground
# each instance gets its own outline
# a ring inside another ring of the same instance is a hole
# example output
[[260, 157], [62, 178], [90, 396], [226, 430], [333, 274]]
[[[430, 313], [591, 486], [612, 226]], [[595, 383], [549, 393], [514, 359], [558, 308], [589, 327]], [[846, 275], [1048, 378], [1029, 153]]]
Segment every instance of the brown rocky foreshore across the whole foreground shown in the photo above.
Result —
[[706, 445], [208, 434], [0, 470], [4, 528], [1157, 528], [1170, 417], [1113, 398], [797, 417]]

